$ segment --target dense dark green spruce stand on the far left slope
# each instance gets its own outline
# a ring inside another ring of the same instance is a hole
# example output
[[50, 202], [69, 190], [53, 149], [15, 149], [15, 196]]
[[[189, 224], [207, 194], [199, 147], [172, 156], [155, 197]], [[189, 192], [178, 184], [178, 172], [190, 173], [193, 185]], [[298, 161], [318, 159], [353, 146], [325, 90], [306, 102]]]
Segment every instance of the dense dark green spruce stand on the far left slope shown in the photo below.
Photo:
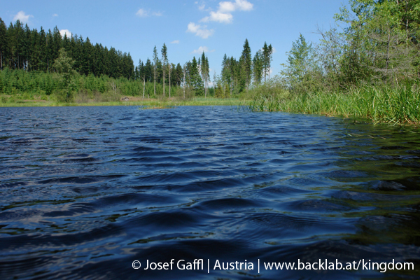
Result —
[[61, 36], [57, 27], [45, 31], [43, 27], [29, 29], [17, 20], [6, 27], [0, 18], [0, 68], [24, 69], [25, 71], [53, 71], [52, 64], [64, 48], [74, 60], [73, 69], [84, 75], [106, 75], [113, 78], [131, 78], [134, 64], [129, 53], [102, 44], [90, 43], [77, 34]]

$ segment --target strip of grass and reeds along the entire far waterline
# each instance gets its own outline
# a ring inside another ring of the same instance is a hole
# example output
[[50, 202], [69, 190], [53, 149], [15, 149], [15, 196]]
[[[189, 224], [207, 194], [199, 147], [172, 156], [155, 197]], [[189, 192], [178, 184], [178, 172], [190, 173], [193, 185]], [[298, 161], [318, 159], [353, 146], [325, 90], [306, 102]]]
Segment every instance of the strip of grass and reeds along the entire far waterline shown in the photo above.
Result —
[[[251, 90], [252, 91], [252, 90]], [[314, 92], [282, 96], [257, 94], [253, 100], [195, 97], [192, 99], [166, 98], [129, 101], [64, 103], [45, 100], [20, 100], [0, 103], [0, 107], [25, 106], [148, 106], [163, 109], [176, 106], [238, 106], [245, 111], [282, 111], [288, 113], [318, 114], [354, 119], [369, 119], [373, 123], [420, 125], [420, 88], [411, 87], [358, 87], [349, 92]]]

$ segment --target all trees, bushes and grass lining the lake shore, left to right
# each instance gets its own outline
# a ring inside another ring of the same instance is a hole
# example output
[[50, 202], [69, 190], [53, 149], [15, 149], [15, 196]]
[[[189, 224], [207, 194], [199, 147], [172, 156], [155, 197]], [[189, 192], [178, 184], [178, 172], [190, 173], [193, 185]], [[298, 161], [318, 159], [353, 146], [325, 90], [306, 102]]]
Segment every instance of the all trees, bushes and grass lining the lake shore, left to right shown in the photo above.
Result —
[[334, 18], [329, 29], [314, 27], [319, 41], [297, 35], [275, 76], [272, 45], [253, 55], [245, 39], [239, 58], [225, 55], [213, 77], [204, 52], [175, 64], [164, 44], [134, 65], [130, 52], [92, 45], [88, 37], [62, 37], [57, 27], [31, 30], [19, 21], [6, 27], [0, 20], [1, 102], [239, 98], [253, 111], [418, 123], [420, 0], [350, 0]]

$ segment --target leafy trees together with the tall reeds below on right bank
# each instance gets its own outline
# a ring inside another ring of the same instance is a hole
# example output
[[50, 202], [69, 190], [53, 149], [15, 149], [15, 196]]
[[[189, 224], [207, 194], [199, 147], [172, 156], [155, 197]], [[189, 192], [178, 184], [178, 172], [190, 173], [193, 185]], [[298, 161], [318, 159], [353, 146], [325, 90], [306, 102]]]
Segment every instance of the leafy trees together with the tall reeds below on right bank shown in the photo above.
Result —
[[318, 45], [300, 35], [274, 84], [242, 94], [248, 109], [420, 124], [420, 0], [349, 3]]

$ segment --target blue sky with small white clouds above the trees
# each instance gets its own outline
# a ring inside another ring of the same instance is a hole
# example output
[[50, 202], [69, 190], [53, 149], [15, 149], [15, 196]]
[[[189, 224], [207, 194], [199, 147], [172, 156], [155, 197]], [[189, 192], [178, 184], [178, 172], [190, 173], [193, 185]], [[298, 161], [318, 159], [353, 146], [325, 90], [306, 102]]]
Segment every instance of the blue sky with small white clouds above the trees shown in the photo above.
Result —
[[92, 43], [130, 52], [135, 65], [139, 59], [151, 59], [153, 47], [160, 51], [163, 43], [172, 63], [183, 64], [205, 50], [217, 73], [225, 53], [239, 59], [245, 38], [253, 55], [267, 41], [274, 47], [276, 74], [299, 34], [318, 41], [316, 26], [328, 29], [346, 4], [346, 0], [0, 0], [0, 18], [6, 25], [20, 19], [31, 29], [57, 26], [89, 37]]

